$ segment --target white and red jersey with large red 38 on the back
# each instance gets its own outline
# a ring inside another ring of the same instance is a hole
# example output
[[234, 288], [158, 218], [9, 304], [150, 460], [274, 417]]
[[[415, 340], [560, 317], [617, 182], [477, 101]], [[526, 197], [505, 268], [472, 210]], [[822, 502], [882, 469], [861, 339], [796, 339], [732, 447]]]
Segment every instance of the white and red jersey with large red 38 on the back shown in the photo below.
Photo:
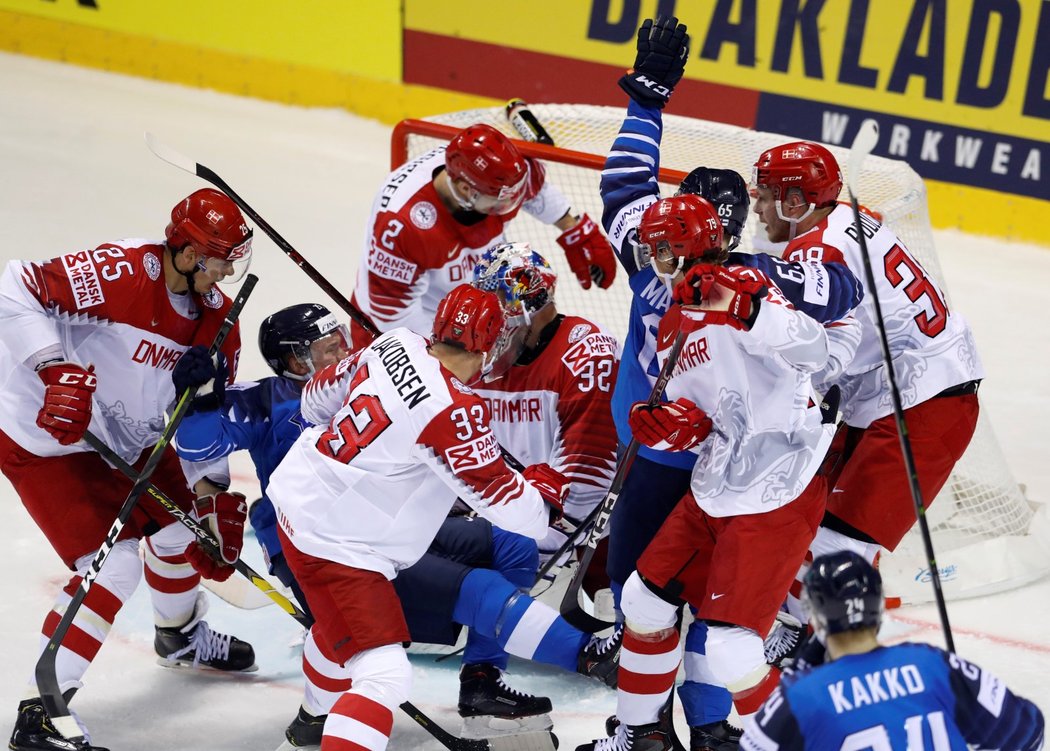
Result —
[[[915, 406], [951, 387], [984, 377], [969, 325], [949, 310], [944, 293], [926, 270], [885, 225], [861, 213], [876, 289], [889, 341], [894, 373], [904, 409]], [[783, 252], [789, 260], [842, 260], [864, 279], [864, 260], [853, 209], [840, 204], [813, 229], [802, 233]], [[830, 336], [853, 342], [856, 354], [841, 373], [818, 375], [824, 385], [842, 389], [842, 416], [855, 427], [867, 427], [892, 412], [889, 382], [882, 362], [873, 290], [853, 315], [856, 333], [843, 330]]]

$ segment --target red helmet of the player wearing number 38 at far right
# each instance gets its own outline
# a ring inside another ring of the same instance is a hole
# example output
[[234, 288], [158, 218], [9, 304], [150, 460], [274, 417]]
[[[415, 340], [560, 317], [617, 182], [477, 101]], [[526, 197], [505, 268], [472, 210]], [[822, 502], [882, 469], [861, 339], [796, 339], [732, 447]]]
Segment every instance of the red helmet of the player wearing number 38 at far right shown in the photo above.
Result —
[[820, 208], [835, 203], [842, 192], [842, 170], [835, 157], [820, 144], [794, 141], [763, 151], [755, 162], [751, 184], [769, 188], [776, 201], [798, 188], [806, 203]]

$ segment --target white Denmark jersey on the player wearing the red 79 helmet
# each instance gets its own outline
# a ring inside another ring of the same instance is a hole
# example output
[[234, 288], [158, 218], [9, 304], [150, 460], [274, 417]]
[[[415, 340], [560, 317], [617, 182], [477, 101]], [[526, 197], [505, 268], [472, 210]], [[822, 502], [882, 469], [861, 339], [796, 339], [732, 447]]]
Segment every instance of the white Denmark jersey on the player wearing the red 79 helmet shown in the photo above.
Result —
[[702, 312], [673, 306], [657, 342], [663, 362], [679, 327], [689, 331], [667, 398], [691, 399], [713, 423], [691, 450], [698, 458], [690, 487], [713, 517], [772, 512], [805, 489], [835, 432], [821, 422], [812, 380], [827, 360], [827, 336], [775, 287], [750, 331], [702, 320]]

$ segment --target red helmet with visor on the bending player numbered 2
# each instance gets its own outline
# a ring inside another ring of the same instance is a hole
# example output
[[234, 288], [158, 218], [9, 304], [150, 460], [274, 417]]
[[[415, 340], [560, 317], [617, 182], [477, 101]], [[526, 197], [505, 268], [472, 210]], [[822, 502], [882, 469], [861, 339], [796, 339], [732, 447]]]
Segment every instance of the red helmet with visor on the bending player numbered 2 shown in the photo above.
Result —
[[453, 187], [460, 206], [484, 214], [510, 213], [521, 206], [528, 187], [525, 158], [490, 125], [471, 125], [457, 133], [445, 149], [445, 169], [449, 178], [469, 186], [465, 195]]

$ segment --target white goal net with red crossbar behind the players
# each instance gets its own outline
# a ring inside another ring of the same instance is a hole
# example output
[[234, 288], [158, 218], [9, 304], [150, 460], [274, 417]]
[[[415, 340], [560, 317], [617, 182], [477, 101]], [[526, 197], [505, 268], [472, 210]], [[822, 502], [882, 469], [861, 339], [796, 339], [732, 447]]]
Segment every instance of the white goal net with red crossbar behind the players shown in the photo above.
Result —
[[[605, 154], [620, 129], [624, 109], [591, 105], [532, 105], [556, 146], [518, 142], [521, 150], [542, 159], [547, 179], [571, 201], [578, 213], [601, 222], [598, 180]], [[408, 120], [394, 130], [392, 166], [397, 166], [447, 141], [472, 123], [488, 123], [511, 138], [502, 107], [471, 109]], [[735, 126], [676, 116], [665, 116], [660, 145], [660, 185], [664, 195], [694, 167], [736, 169], [746, 180], [759, 153], [794, 139]], [[847, 149], [828, 145], [845, 170]], [[879, 211], [884, 222], [905, 242], [926, 270], [945, 289], [926, 208], [926, 190], [919, 175], [904, 162], [870, 157], [864, 162], [858, 195]], [[741, 250], [761, 249], [752, 213]], [[626, 275], [617, 274], [612, 287], [583, 290], [554, 242], [558, 231], [524, 212], [508, 226], [506, 237], [526, 241], [544, 254], [559, 273], [558, 305], [562, 311], [584, 315], [610, 329], [623, 341], [627, 331], [630, 290]], [[948, 598], [975, 597], [1021, 586], [1050, 572], [1050, 522], [1045, 512], [1035, 514], [1014, 482], [982, 410], [976, 433], [949, 481], [926, 514], [942, 586]], [[929, 566], [918, 525], [898, 549], [882, 558], [887, 600], [919, 603], [932, 599]]]

